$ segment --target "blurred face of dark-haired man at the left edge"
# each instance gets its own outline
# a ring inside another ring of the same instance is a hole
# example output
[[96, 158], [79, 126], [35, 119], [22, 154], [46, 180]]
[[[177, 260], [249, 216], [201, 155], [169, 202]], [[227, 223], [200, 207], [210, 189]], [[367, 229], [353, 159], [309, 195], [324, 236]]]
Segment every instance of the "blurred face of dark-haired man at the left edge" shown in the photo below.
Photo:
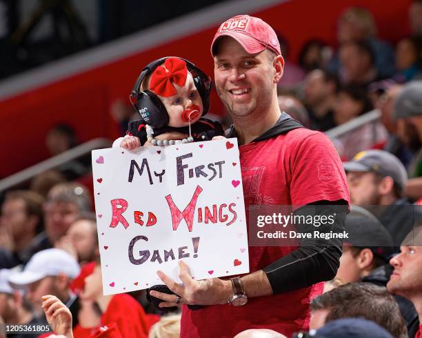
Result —
[[1, 206], [0, 224], [6, 227], [15, 241], [28, 231], [28, 218], [22, 199], [9, 199]]

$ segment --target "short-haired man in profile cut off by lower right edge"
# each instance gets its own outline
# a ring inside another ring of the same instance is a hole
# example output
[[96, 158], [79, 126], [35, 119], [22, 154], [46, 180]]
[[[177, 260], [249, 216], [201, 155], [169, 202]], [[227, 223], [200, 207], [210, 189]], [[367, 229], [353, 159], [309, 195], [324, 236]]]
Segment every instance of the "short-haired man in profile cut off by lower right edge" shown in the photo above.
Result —
[[[394, 295], [401, 295], [412, 301], [422, 321], [422, 221], [419, 220], [412, 232], [401, 243], [400, 254], [390, 259], [394, 266], [387, 289]], [[419, 331], [418, 331], [419, 330]], [[416, 333], [417, 332], [417, 333]], [[409, 330], [409, 337], [422, 337], [422, 326]]]

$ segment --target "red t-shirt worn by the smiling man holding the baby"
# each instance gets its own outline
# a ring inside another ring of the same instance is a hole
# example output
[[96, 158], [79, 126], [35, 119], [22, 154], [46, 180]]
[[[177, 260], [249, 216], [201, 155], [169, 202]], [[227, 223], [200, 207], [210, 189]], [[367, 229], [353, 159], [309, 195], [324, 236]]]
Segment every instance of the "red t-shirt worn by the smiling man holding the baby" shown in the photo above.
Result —
[[[298, 128], [239, 150], [246, 209], [252, 205], [350, 201], [339, 156], [321, 132]], [[250, 272], [296, 249], [250, 246]], [[281, 295], [250, 298], [245, 306], [224, 304], [201, 310], [183, 306], [181, 337], [234, 337], [249, 328], [268, 328], [291, 337], [293, 332], [308, 329], [310, 300], [322, 291], [323, 283], [319, 283]]]

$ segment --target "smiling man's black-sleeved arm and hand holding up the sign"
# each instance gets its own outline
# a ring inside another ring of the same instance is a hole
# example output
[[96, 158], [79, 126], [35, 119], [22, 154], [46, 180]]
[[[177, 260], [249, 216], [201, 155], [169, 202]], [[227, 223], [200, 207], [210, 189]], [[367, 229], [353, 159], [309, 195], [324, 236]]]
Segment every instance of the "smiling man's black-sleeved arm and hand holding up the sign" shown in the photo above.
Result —
[[[340, 203], [345, 203], [341, 201]], [[295, 215], [332, 215], [336, 218], [332, 226], [319, 227], [320, 232], [342, 232], [345, 225], [347, 204], [330, 205], [329, 201], [319, 201], [312, 206], [305, 206]], [[339, 203], [339, 202], [337, 202]], [[317, 205], [317, 206], [315, 206]], [[302, 228], [303, 232], [313, 232], [313, 226]], [[313, 235], [313, 234], [312, 234]], [[263, 270], [241, 277], [243, 288], [248, 297], [261, 297], [290, 290], [304, 288], [319, 281], [328, 281], [336, 275], [341, 256], [341, 239], [315, 240], [303, 239], [301, 246], [285, 257], [281, 257]], [[183, 286], [176, 284], [170, 277], [158, 272], [159, 277], [176, 295], [181, 296], [181, 303], [196, 305], [225, 304], [232, 297], [230, 280], [219, 278], [195, 281], [189, 274], [188, 266], [180, 264], [180, 279]], [[161, 307], [175, 306], [176, 296], [152, 291], [151, 295], [163, 299]]]

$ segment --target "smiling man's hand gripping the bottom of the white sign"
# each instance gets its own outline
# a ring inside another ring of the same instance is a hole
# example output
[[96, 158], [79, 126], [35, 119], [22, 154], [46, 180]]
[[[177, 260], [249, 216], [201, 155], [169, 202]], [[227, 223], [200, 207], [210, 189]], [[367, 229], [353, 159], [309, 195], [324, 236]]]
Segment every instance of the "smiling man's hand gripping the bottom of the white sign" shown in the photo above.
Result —
[[[228, 299], [232, 297], [233, 288], [231, 281], [225, 281], [219, 278], [196, 281], [192, 279], [189, 268], [183, 261], [179, 261], [179, 268], [179, 278], [183, 282], [183, 286], [181, 284], [177, 284], [162, 271], [158, 271], [157, 275], [159, 275], [163, 283], [168, 286], [172, 292], [181, 297], [180, 304], [226, 304]], [[161, 308], [168, 308], [171, 306], [179, 305], [176, 303], [176, 295], [167, 295], [163, 292], [157, 291], [151, 291], [151, 295], [165, 301], [160, 304]]]

